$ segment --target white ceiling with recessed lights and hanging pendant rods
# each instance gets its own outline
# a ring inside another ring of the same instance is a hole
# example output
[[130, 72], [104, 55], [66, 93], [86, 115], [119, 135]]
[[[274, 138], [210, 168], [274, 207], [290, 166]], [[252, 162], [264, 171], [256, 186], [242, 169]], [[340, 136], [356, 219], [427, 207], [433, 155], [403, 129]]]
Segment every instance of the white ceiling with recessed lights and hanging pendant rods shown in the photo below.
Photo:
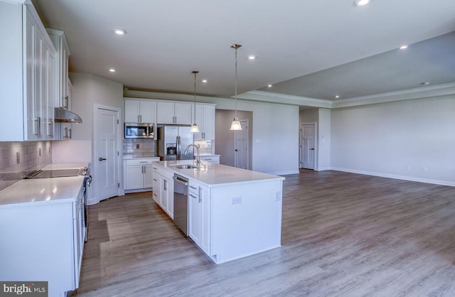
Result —
[[455, 82], [454, 0], [353, 2], [33, 0], [45, 26], [65, 31], [70, 71], [129, 90], [193, 94], [198, 70], [198, 95], [230, 97], [233, 43], [239, 94], [333, 100]]

